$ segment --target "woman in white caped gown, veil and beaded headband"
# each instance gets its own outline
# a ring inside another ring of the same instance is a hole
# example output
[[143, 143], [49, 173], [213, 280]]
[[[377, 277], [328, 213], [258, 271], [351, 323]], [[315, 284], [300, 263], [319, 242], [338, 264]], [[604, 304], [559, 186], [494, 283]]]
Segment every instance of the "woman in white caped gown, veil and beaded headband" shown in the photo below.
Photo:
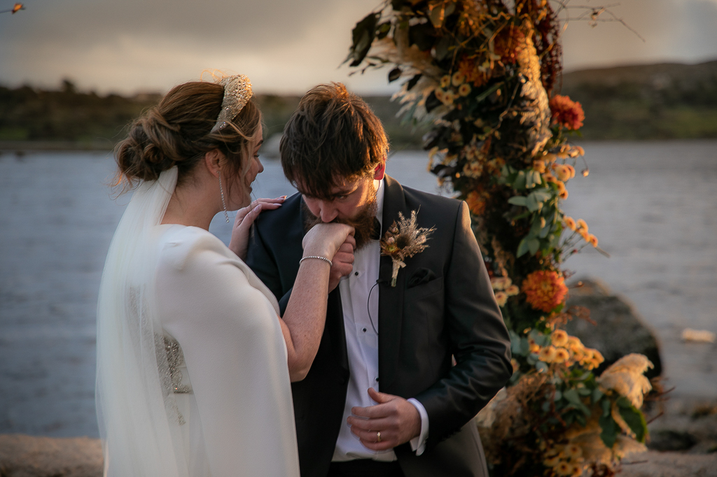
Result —
[[[105, 476], [298, 476], [290, 380], [313, 362], [331, 259], [353, 229], [312, 228], [283, 317], [244, 264], [261, 116], [244, 76], [174, 87], [115, 149], [137, 186], [100, 284], [97, 409]], [[229, 248], [212, 217], [240, 209]], [[341, 251], [339, 251], [341, 249]]]

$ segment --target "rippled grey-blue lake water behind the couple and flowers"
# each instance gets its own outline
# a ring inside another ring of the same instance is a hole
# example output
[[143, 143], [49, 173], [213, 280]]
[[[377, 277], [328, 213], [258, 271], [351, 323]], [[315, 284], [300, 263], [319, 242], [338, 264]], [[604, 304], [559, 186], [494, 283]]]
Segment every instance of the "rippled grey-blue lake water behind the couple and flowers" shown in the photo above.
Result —
[[[609, 252], [566, 263], [630, 300], [663, 346], [676, 393], [717, 397], [717, 345], [685, 344], [685, 327], [717, 332], [717, 141], [587, 143], [587, 178], [566, 213]], [[436, 192], [422, 152], [387, 170]], [[293, 193], [265, 160], [255, 195]], [[111, 197], [108, 153], [0, 155], [0, 433], [97, 436], [95, 307], [110, 238], [128, 196]], [[210, 229], [225, 242], [229, 225]]]

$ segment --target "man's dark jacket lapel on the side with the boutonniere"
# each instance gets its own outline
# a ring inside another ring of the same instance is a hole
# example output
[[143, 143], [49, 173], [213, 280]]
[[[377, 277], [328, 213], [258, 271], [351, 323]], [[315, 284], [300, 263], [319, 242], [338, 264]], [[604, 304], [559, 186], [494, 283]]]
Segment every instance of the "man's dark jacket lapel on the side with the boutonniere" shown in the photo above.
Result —
[[[404, 191], [396, 180], [386, 175], [384, 212], [382, 214], [381, 236], [394, 221], [399, 212], [409, 215]], [[391, 286], [391, 257], [381, 256], [379, 265], [379, 389], [389, 392], [396, 377], [401, 344], [403, 322], [403, 294], [406, 288], [405, 269], [399, 271], [396, 286]]]

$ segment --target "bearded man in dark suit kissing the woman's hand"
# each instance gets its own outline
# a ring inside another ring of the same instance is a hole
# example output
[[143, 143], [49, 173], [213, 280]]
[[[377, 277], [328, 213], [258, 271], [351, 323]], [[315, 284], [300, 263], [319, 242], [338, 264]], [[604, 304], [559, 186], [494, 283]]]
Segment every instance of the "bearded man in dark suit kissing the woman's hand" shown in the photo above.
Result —
[[[247, 264], [282, 311], [305, 231], [356, 228], [356, 251], [333, 260], [318, 353], [292, 387], [301, 475], [487, 477], [472, 418], [511, 377], [510, 338], [466, 204], [385, 175], [381, 122], [341, 84], [303, 97], [280, 151], [299, 193], [257, 219]], [[377, 238], [414, 211], [434, 231], [393, 286]]]

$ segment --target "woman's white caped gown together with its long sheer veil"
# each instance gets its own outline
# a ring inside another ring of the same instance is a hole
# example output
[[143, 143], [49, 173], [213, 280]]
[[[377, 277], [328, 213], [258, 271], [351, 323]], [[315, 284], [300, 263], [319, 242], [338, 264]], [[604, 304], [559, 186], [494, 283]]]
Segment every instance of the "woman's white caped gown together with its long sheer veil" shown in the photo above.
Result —
[[298, 477], [276, 299], [211, 233], [159, 225], [176, 174], [135, 191], [100, 284], [105, 476]]

